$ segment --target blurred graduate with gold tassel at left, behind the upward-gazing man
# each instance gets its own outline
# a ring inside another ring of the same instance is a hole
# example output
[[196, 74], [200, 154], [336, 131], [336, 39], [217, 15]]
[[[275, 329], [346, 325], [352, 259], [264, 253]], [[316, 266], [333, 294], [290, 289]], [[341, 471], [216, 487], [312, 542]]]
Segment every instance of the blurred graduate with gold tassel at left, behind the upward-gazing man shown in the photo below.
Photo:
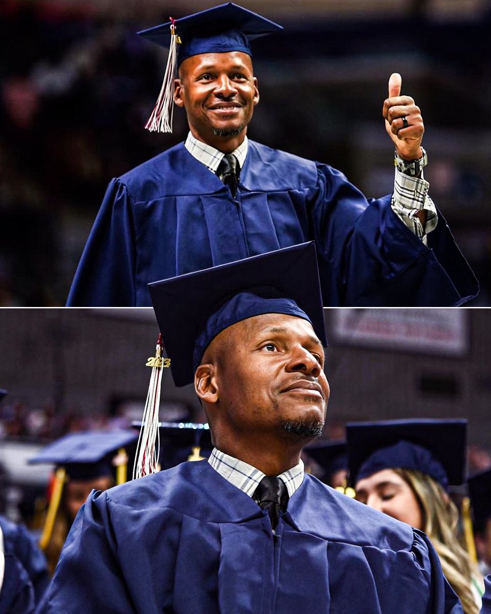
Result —
[[66, 536], [90, 492], [105, 491], [126, 481], [127, 451], [136, 446], [136, 440], [137, 435], [131, 430], [71, 433], [48, 444], [30, 459], [31, 464], [56, 466], [39, 542], [50, 573], [55, 571]]

